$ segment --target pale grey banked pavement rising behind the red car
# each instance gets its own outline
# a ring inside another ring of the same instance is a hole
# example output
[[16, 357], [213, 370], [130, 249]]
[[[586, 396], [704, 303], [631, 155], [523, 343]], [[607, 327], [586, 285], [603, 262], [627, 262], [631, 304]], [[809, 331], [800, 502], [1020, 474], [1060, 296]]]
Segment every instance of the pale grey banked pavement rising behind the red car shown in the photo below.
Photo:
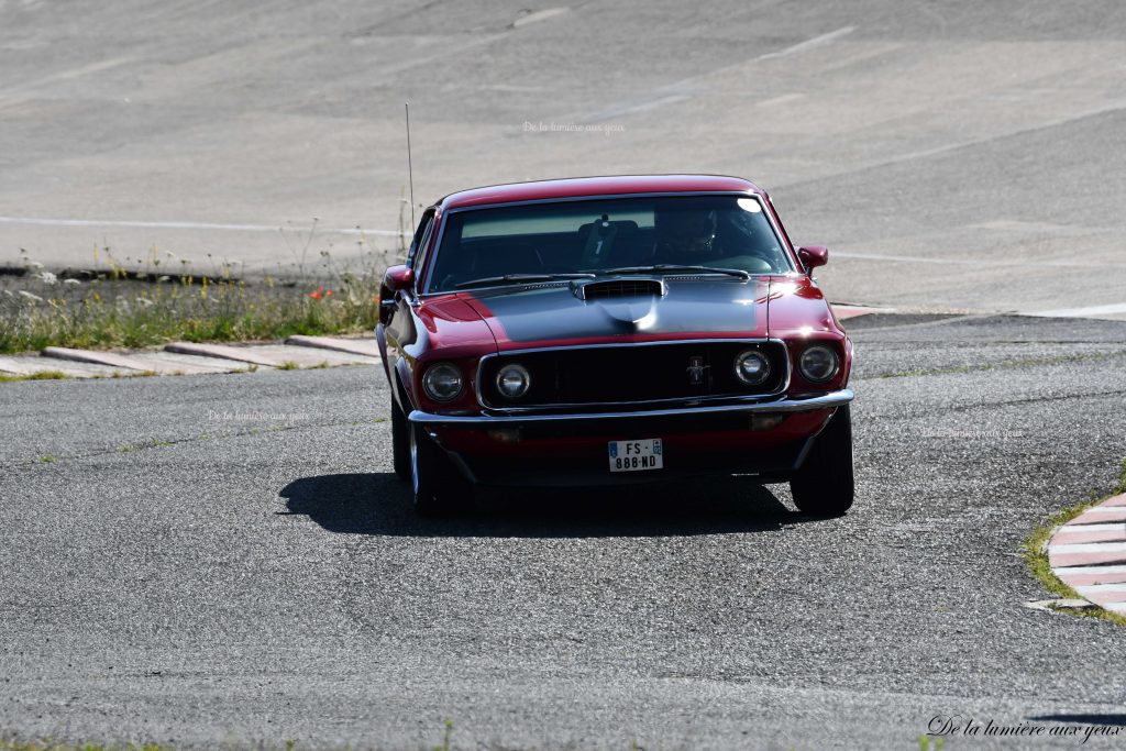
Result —
[[1124, 57], [1117, 0], [0, 0], [0, 263], [388, 247], [410, 100], [419, 202], [739, 175], [837, 301], [1126, 319]]

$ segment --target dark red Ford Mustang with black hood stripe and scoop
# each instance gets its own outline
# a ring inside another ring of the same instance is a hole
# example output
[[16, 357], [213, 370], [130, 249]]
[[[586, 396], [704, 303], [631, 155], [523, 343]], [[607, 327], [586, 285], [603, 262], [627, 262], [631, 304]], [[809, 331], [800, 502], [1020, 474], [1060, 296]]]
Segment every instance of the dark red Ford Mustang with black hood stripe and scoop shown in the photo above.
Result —
[[464, 190], [387, 269], [375, 336], [420, 513], [473, 485], [743, 474], [852, 504], [852, 343], [770, 198], [713, 176]]

